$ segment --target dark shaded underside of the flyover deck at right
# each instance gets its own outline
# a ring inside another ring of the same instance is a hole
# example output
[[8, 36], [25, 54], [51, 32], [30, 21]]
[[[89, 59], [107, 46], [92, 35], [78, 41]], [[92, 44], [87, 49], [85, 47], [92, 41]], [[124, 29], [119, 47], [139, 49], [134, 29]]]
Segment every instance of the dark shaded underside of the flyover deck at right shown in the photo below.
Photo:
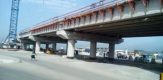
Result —
[[163, 16], [155, 14], [134, 19], [117, 20], [109, 23], [71, 29], [71, 31], [101, 34], [112, 37], [144, 37], [163, 35]]

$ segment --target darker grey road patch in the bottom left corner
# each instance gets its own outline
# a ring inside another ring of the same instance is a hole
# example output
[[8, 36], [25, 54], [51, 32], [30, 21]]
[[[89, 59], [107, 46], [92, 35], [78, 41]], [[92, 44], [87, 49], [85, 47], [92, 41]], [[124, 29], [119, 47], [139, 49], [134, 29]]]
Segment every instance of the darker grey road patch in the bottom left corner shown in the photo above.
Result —
[[46, 80], [33, 72], [22, 71], [15, 68], [0, 66], [0, 80]]

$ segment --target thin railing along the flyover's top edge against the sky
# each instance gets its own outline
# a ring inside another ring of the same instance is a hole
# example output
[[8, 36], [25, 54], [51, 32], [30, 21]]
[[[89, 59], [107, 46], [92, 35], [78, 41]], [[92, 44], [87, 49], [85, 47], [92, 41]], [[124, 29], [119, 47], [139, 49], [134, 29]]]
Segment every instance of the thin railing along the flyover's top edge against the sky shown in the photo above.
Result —
[[59, 22], [59, 21], [63, 21], [65, 19], [71, 19], [73, 17], [82, 16], [82, 15], [85, 15], [85, 14], [88, 14], [88, 13], [91, 13], [91, 12], [99, 11], [101, 9], [105, 9], [105, 8], [108, 8], [108, 7], [113, 7], [113, 6], [117, 5], [117, 4], [123, 4], [126, 1], [127, 0], [113, 0], [113, 1], [101, 0], [99, 2], [93, 3], [93, 4], [89, 5], [89, 6], [80, 8], [78, 10], [63, 14], [61, 16], [53, 17], [53, 18], [48, 19], [46, 21], [42, 21], [42, 22], [32, 26], [31, 28], [27, 28], [27, 29], [22, 30], [20, 32], [20, 34], [23, 34], [24, 32], [28, 32], [28, 31], [33, 30], [33, 29], [43, 27], [43, 26], [48, 25], [48, 24], [53, 24], [53, 23], [56, 23], [56, 22]]

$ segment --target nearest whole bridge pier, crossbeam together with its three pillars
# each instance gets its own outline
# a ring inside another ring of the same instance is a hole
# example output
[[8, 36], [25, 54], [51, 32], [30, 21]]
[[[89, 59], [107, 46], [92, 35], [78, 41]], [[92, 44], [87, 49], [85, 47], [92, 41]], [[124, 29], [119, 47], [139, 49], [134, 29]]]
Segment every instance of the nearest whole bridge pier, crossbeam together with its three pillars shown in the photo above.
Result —
[[[74, 40], [85, 40], [85, 41], [97, 41], [97, 42], [103, 42], [103, 43], [114, 43], [110, 44], [109, 50], [110, 50], [110, 57], [114, 59], [114, 47], [115, 44], [119, 44], [123, 42], [123, 39], [119, 37], [108, 37], [108, 36], [103, 36], [103, 35], [96, 35], [96, 34], [88, 34], [88, 33], [78, 33], [78, 32], [70, 32], [70, 31], [57, 31], [56, 33], [59, 37], [63, 39], [68, 40], [68, 51], [67, 55], [68, 57], [74, 57], [74, 46], [75, 46], [75, 41]], [[90, 57], [96, 57], [96, 43], [97, 42], [91, 42], [91, 52], [90, 52]]]

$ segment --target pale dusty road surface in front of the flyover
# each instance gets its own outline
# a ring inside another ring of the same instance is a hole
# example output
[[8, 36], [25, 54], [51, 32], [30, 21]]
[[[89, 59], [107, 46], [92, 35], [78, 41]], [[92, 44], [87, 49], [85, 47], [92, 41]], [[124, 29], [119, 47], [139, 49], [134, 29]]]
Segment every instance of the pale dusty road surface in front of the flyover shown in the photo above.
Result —
[[[0, 50], [0, 80], [159, 80], [159, 74], [137, 67], [86, 62], [57, 55]], [[5, 56], [5, 57], [4, 57]]]

